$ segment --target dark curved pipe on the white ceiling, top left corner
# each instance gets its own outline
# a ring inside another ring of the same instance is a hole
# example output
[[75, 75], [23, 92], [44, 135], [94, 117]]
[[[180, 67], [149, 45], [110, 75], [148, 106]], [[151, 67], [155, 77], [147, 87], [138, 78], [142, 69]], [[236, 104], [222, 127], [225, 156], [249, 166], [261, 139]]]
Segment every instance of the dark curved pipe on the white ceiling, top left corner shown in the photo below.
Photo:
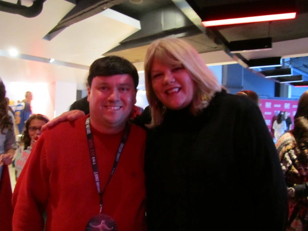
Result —
[[43, 3], [44, 0], [34, 0], [32, 6], [22, 6], [20, 1], [16, 4], [0, 1], [0, 10], [12, 14], [20, 14], [27, 18], [33, 18], [42, 12]]

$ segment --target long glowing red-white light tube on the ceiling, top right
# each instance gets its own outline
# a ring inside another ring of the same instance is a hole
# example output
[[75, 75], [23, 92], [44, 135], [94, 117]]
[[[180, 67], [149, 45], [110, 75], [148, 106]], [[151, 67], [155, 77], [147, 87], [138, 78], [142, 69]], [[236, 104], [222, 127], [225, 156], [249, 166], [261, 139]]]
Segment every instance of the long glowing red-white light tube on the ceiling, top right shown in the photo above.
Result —
[[213, 21], [203, 21], [201, 22], [203, 26], [222, 26], [222, 25], [232, 25], [240, 23], [249, 23], [249, 22], [265, 22], [265, 21], [274, 21], [282, 19], [292, 19], [296, 17], [296, 12], [285, 13], [285, 14], [270, 14], [270, 15], [261, 15], [253, 17], [244, 17], [244, 18], [229, 18]]

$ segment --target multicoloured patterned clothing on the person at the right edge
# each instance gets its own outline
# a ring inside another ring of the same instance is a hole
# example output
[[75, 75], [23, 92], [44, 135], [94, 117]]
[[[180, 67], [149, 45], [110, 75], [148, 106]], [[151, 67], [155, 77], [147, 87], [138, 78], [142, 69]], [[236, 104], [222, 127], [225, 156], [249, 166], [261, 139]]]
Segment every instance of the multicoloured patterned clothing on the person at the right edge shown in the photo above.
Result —
[[[276, 143], [289, 194], [289, 231], [308, 230], [308, 201], [298, 193], [298, 186], [308, 182], [307, 143], [298, 144], [292, 131], [283, 134]], [[300, 195], [300, 196], [299, 196]]]

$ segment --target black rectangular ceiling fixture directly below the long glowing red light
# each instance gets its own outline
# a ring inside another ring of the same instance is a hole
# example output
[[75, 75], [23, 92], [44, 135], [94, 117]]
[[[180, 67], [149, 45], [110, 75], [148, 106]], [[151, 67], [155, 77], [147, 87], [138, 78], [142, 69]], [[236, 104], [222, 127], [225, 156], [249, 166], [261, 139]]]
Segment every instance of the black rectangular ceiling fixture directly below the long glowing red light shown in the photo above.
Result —
[[231, 41], [228, 47], [231, 53], [271, 50], [272, 38]]

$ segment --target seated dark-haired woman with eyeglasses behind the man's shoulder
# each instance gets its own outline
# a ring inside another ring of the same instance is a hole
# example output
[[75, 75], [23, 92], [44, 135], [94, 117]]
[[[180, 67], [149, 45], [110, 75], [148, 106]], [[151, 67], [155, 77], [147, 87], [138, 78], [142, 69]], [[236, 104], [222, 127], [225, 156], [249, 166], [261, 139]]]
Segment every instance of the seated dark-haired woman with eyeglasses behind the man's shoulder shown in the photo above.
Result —
[[[45, 115], [35, 114], [30, 116], [30, 118], [26, 121], [25, 130], [22, 134], [21, 141], [23, 142], [23, 148], [19, 149], [19, 152], [15, 158], [15, 174], [16, 180], [18, 179], [20, 172], [22, 171], [23, 166], [30, 155], [30, 151], [42, 131], [41, 128], [44, 124], [46, 124], [49, 119]], [[22, 151], [23, 149], [23, 151]]]

